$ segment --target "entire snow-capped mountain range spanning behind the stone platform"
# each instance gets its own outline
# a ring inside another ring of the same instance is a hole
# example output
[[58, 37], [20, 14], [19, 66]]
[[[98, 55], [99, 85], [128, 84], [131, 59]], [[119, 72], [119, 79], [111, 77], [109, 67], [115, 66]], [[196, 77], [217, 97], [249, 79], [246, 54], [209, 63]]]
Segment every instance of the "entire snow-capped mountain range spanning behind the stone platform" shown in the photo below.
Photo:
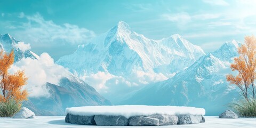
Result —
[[[35, 53], [15, 47], [19, 42], [10, 35], [0, 37], [2, 49], [14, 49], [15, 61], [38, 59]], [[149, 39], [119, 21], [55, 62], [70, 72], [58, 85], [45, 83], [50, 98], [29, 98], [24, 105], [38, 115], [63, 115], [66, 107], [114, 103], [194, 106], [216, 116], [239, 98], [239, 90], [226, 82], [226, 74], [231, 73], [229, 66], [240, 45], [233, 40], [205, 54], [178, 34]]]

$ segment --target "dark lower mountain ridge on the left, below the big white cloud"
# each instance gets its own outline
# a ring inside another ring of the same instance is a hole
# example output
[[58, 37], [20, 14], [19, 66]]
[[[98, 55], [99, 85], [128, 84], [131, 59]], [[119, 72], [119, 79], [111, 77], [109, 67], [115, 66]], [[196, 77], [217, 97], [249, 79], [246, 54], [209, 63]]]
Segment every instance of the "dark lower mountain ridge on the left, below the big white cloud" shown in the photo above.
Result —
[[46, 83], [51, 96], [29, 98], [23, 102], [23, 106], [34, 111], [37, 116], [63, 116], [68, 107], [111, 105], [93, 87], [74, 75], [61, 78], [59, 85]]

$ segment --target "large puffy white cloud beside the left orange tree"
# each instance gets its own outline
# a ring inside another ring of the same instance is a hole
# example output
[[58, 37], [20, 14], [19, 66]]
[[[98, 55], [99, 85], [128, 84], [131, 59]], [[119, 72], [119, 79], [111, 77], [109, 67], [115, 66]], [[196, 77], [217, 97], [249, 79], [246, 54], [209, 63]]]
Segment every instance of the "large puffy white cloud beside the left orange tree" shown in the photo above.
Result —
[[38, 60], [23, 58], [11, 68], [13, 73], [16, 70], [25, 70], [28, 77], [28, 83], [25, 89], [29, 92], [29, 97], [49, 97], [49, 90], [46, 88], [46, 82], [59, 85], [62, 77], [67, 77], [69, 71], [60, 65], [54, 63], [53, 59], [47, 53], [42, 53]]

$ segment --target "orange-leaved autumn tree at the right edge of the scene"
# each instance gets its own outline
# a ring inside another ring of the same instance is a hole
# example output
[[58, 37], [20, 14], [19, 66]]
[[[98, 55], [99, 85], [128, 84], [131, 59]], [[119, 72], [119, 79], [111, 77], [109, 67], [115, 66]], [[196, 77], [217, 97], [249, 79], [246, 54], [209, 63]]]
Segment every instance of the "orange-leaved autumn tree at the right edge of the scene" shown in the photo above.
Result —
[[248, 99], [248, 90], [252, 92], [255, 98], [255, 76], [256, 76], [256, 38], [255, 36], [246, 36], [245, 44], [238, 48], [239, 57], [231, 63], [230, 68], [238, 71], [238, 75], [227, 75], [227, 81], [235, 84], [241, 89], [243, 96]]

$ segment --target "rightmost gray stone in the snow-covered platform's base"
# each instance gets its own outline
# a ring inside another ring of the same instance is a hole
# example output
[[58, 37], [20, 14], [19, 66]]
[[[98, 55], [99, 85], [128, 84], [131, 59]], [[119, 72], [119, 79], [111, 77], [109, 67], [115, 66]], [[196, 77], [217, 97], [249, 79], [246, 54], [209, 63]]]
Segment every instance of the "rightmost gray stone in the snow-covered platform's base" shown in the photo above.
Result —
[[199, 115], [178, 115], [178, 117], [177, 124], [198, 124], [205, 122], [204, 117]]

